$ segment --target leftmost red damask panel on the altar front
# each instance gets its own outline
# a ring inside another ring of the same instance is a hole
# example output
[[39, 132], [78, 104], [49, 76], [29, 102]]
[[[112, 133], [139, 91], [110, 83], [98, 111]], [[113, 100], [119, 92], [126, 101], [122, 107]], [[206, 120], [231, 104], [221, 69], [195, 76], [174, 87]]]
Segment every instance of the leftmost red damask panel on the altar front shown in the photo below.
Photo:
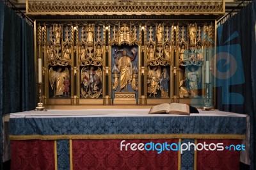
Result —
[[12, 170], [54, 168], [54, 141], [12, 141]]

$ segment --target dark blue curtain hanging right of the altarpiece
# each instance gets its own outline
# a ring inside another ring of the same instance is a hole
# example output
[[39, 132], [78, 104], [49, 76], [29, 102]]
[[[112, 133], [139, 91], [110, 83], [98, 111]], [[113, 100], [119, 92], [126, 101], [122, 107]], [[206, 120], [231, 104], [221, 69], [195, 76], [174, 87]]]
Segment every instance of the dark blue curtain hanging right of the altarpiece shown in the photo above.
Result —
[[250, 169], [256, 169], [256, 2], [217, 31], [217, 107], [250, 116]]

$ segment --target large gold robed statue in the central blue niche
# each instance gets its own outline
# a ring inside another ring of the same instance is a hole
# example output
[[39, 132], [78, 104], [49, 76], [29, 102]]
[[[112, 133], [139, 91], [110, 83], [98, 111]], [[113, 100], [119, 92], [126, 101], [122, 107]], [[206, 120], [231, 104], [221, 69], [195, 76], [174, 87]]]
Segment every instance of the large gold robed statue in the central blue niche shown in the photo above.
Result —
[[116, 66], [120, 70], [120, 91], [125, 88], [127, 91], [128, 84], [131, 84], [132, 77], [132, 62], [127, 55], [127, 50], [123, 51], [122, 57], [116, 56]]

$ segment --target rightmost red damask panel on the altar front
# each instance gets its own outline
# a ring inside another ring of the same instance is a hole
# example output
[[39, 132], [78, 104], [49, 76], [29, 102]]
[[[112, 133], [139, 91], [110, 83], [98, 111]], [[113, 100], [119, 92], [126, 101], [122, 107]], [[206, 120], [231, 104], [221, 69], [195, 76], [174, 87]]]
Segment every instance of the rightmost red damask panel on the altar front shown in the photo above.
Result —
[[239, 170], [239, 158], [240, 151], [229, 151], [225, 147], [230, 146], [230, 144], [241, 144], [241, 140], [232, 140], [232, 139], [198, 139], [197, 143], [204, 144], [210, 143], [223, 143], [223, 151], [197, 151], [197, 162], [196, 167], [198, 170], [207, 170], [207, 169], [218, 169], [218, 170]]

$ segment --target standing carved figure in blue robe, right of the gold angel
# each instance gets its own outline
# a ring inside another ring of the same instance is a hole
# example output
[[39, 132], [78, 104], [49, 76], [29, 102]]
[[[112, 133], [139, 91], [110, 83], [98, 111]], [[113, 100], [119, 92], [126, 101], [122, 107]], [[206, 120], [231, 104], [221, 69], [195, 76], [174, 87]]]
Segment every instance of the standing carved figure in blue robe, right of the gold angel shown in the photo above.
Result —
[[163, 68], [163, 72], [161, 73], [161, 79], [160, 79], [161, 97], [163, 98], [168, 98], [168, 91], [169, 91], [168, 82], [169, 81], [170, 81], [170, 76], [167, 72], [167, 68]]

